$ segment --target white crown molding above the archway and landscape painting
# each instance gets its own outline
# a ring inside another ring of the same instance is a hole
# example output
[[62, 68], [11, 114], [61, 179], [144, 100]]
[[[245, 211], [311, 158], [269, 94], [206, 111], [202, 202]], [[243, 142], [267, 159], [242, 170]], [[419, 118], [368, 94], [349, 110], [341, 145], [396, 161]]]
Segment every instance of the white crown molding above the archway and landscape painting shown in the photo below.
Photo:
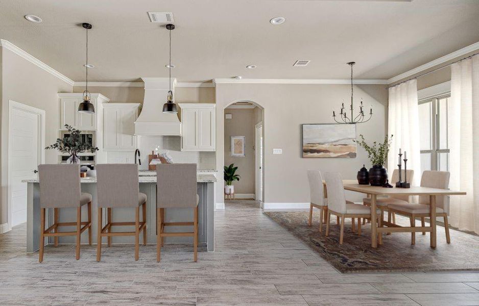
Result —
[[[309, 79], [213, 79], [214, 84], [351, 84], [351, 80]], [[388, 80], [353, 80], [356, 85], [387, 85]]]

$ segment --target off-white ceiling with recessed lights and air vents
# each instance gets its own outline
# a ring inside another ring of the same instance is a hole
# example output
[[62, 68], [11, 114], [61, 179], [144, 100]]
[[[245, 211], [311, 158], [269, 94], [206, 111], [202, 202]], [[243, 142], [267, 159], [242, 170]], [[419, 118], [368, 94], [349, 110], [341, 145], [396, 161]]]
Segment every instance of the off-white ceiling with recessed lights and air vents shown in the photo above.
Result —
[[[348, 79], [349, 61], [357, 78], [389, 79], [479, 41], [477, 0], [1, 0], [0, 38], [84, 81], [90, 22], [90, 81], [166, 77], [168, 31], [149, 11], [173, 12], [179, 82]], [[286, 21], [270, 24], [276, 16]]]

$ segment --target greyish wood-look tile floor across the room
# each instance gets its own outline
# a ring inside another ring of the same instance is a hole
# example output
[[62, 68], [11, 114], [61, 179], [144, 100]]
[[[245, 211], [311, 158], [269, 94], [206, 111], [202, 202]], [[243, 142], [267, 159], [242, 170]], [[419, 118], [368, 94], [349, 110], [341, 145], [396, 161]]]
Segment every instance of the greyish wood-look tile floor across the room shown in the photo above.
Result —
[[[26, 228], [0, 235], [1, 305], [479, 305], [479, 273], [342, 274], [264, 215], [234, 200], [214, 213], [215, 252], [189, 245], [47, 247], [27, 254]], [[461, 256], [461, 254], [458, 254]]]

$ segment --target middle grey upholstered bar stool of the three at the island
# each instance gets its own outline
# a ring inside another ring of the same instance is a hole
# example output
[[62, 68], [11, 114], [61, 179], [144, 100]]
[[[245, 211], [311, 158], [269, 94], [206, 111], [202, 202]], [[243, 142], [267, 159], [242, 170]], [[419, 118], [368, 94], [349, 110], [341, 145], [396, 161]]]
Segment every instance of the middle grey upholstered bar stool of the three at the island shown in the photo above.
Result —
[[[139, 256], [139, 235], [143, 231], [143, 245], [147, 245], [147, 195], [139, 192], [138, 166], [136, 164], [97, 165], [98, 239], [97, 261], [101, 260], [102, 237], [108, 246], [113, 236], [135, 236], [135, 260]], [[142, 222], [140, 222], [140, 206]], [[113, 208], [135, 208], [135, 222], [112, 222]], [[102, 227], [102, 209], [107, 209], [107, 224]], [[112, 232], [113, 226], [135, 226], [134, 232]]]

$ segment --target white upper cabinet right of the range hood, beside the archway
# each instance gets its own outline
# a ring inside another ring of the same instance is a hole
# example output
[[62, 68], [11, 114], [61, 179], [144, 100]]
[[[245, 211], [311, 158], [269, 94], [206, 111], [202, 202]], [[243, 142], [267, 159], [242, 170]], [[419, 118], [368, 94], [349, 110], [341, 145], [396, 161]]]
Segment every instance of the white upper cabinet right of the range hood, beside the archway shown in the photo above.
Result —
[[214, 104], [179, 103], [181, 108], [181, 150], [216, 150]]

